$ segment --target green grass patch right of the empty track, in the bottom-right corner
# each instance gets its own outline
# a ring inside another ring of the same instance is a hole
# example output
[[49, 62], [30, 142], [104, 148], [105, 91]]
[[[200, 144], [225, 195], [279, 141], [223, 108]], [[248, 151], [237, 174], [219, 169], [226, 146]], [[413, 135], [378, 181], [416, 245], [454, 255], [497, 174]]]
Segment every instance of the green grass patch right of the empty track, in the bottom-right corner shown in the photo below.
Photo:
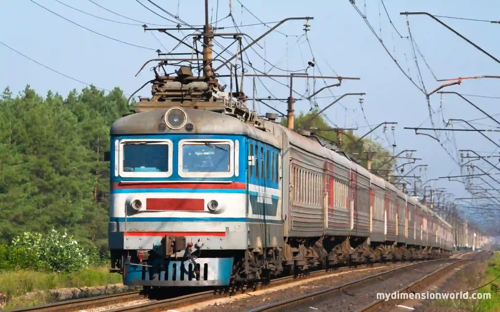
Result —
[[[482, 264], [482, 268], [481, 266], [471, 266], [471, 270], [467, 270], [466, 272], [460, 271], [458, 274], [461, 275], [459, 278], [465, 282], [464, 284], [469, 287], [467, 289], [463, 289], [462, 291], [474, 289], [477, 286], [489, 283], [496, 277], [500, 276], [500, 254], [495, 253], [488, 262]], [[461, 309], [473, 312], [500, 311], [499, 288], [500, 278], [474, 291], [475, 293], [489, 293], [491, 295], [491, 299], [435, 300], [432, 303], [432, 306]], [[469, 292], [469, 297], [472, 293]]]

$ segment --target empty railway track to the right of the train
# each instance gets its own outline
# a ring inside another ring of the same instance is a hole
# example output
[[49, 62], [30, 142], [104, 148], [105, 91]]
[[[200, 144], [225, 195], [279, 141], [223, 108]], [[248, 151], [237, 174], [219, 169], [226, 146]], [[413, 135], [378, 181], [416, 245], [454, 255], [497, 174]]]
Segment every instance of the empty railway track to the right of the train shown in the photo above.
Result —
[[[310, 294], [306, 294], [303, 296], [298, 296], [294, 297], [288, 300], [280, 301], [277, 303], [271, 303], [265, 306], [258, 307], [256, 309], [249, 310], [249, 312], [271, 312], [271, 311], [300, 311], [297, 310], [297, 307], [299, 305], [305, 304], [312, 302], [314, 300], [315, 303], [318, 301], [324, 299], [326, 296], [328, 296], [328, 300], [331, 300], [331, 302], [334, 302], [334, 297], [336, 295], [347, 295], [347, 296], [352, 296], [350, 297], [350, 301], [354, 300], [359, 300], [359, 298], [356, 298], [357, 296], [354, 295], [353, 293], [355, 290], [359, 290], [362, 287], [366, 287], [369, 284], [377, 283], [378, 281], [383, 281], [385, 279], [388, 279], [391, 275], [398, 274], [398, 273], [403, 273], [407, 269], [414, 269], [419, 266], [426, 266], [429, 264], [439, 264], [439, 263], [446, 263], [449, 262], [450, 264], [446, 265], [445, 267], [434, 271], [425, 277], [419, 279], [418, 281], [412, 283], [411, 285], [407, 287], [403, 287], [399, 290], [399, 292], [407, 292], [411, 288], [411, 291], [415, 291], [417, 287], [424, 287], [424, 285], [427, 285], [427, 283], [431, 283], [432, 281], [435, 281], [436, 279], [440, 278], [450, 270], [456, 268], [457, 266], [463, 265], [464, 263], [473, 261], [474, 259], [438, 259], [438, 260], [430, 260], [430, 261], [424, 261], [424, 262], [418, 262], [418, 263], [412, 263], [407, 266], [402, 266], [399, 268], [395, 268], [393, 270], [389, 270], [386, 272], [382, 272], [379, 274], [371, 275], [362, 279], [358, 279], [349, 283], [345, 283], [342, 285], [330, 287], [321, 291], [313, 292]], [[415, 269], [416, 270], [416, 269]], [[418, 270], [417, 270], [418, 271]], [[347, 293], [347, 291], [349, 293]], [[371, 294], [374, 295], [374, 294]], [[366, 305], [362, 307], [359, 312], [367, 312], [367, 311], [380, 311], [380, 309], [383, 309], [387, 302], [385, 302], [383, 299], [378, 300], [376, 302], [371, 302], [369, 305]], [[394, 305], [394, 301], [390, 301], [390, 305]], [[318, 310], [318, 309], [315, 309]], [[309, 310], [311, 311], [311, 310]], [[324, 310], [324, 311], [331, 311], [331, 310]]]

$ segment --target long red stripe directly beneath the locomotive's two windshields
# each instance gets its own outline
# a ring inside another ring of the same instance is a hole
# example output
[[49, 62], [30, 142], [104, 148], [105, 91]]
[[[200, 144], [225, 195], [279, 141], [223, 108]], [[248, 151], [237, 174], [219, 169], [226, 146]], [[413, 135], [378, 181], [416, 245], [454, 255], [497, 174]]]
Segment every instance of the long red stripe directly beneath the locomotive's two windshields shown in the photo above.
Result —
[[122, 181], [111, 183], [111, 189], [219, 189], [219, 190], [244, 190], [246, 185], [242, 182], [230, 183], [165, 183], [165, 182], [139, 182]]

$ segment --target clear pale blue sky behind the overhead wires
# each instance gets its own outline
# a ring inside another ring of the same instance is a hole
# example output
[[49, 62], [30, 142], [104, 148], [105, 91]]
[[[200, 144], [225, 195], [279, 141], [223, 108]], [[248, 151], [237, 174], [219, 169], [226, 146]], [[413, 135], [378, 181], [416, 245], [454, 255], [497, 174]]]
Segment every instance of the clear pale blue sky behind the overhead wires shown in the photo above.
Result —
[[[101, 20], [64, 6], [56, 0], [33, 1], [89, 29], [153, 50], [126, 45], [99, 36], [48, 12], [30, 0], [0, 0], [1, 42], [46, 66], [105, 89], [119, 86], [126, 94], [130, 94], [151, 78], [147, 69], [137, 77], [134, 77], [134, 74], [144, 61], [156, 57], [154, 49], [164, 50], [164, 48], [151, 33], [144, 33], [141, 26]], [[151, 27], [151, 23], [173, 24], [151, 13], [136, 0], [94, 1], [119, 14], [147, 22]], [[277, 21], [290, 16], [313, 16], [314, 19], [309, 21], [310, 31], [307, 35], [317, 64], [314, 73], [318, 74], [318, 70], [320, 70], [323, 75], [334, 75], [335, 71], [343, 76], [360, 77], [359, 81], [344, 80], [340, 88], [333, 89], [334, 94], [366, 92], [363, 108], [370, 125], [376, 125], [383, 121], [398, 122], [394, 131], [396, 152], [404, 149], [416, 149], [417, 152], [414, 156], [423, 159], [417, 164], [428, 164], [426, 173], [423, 171], [419, 173], [418, 169], [414, 171], [422, 175], [423, 179], [445, 176], [449, 173], [459, 174], [458, 166], [437, 141], [427, 136], [415, 136], [413, 130], [403, 129], [403, 127], [416, 127], [422, 122], [424, 122], [423, 126], [430, 126], [425, 97], [396, 67], [349, 0], [240, 1], [263, 21]], [[60, 0], [60, 2], [103, 18], [142, 24], [116, 16], [89, 0]], [[140, 2], [158, 14], [167, 16], [146, 0], [140, 0]], [[155, 2], [173, 14], [176, 14], [178, 9], [179, 17], [190, 24], [203, 23], [202, 0], [180, 0], [180, 2], [177, 0], [155, 0]], [[216, 2], [216, 0], [209, 0], [210, 15], [213, 14], [213, 20], [215, 20]], [[403, 36], [407, 36], [408, 28], [406, 17], [399, 15], [401, 11], [427, 11], [436, 15], [498, 19], [499, 4], [493, 0], [481, 1], [480, 4], [472, 4], [472, 1], [467, 0], [385, 0], [384, 3], [394, 26]], [[218, 5], [218, 19], [220, 19], [228, 14], [229, 0], [219, 0]], [[413, 81], [421, 85], [413, 60], [413, 49], [410, 47], [409, 41], [401, 39], [391, 26], [381, 2], [379, 0], [356, 0], [356, 5], [362, 13], [366, 10], [367, 20], [373, 26], [374, 31], [377, 35], [381, 33], [384, 44], [393, 53], [403, 70], [408, 72], [409, 68]], [[241, 8], [237, 0], [232, 0], [232, 13], [238, 25], [258, 22], [247, 10]], [[499, 64], [429, 17], [410, 16], [408, 20], [412, 36], [420, 52], [438, 79], [498, 73]], [[500, 57], [497, 40], [500, 24], [455, 19], [442, 20], [486, 51]], [[271, 63], [279, 61], [276, 64], [279, 68], [289, 70], [305, 68], [307, 61], [312, 59], [312, 55], [307, 42], [304, 41], [305, 37], [302, 36], [296, 42], [297, 37], [295, 36], [303, 34], [303, 23], [303, 21], [289, 21], [283, 24], [278, 29], [289, 36], [272, 32], [266, 37], [265, 42], [264, 40], [260, 41], [262, 48], [254, 46], [255, 50], [260, 55], [265, 55], [265, 58]], [[225, 18], [218, 23], [218, 26], [229, 27], [232, 25], [230, 18]], [[264, 25], [256, 25], [241, 29], [255, 38], [267, 28]], [[235, 29], [228, 28], [221, 31], [233, 32]], [[187, 34], [187, 32], [184, 33]], [[174, 42], [166, 35], [154, 34], [166, 48], [171, 48], [174, 45]], [[180, 33], [178, 35], [182, 36]], [[229, 40], [224, 41], [224, 43], [230, 42]], [[220, 49], [218, 50], [220, 51]], [[435, 81], [418, 51], [416, 51], [416, 55], [423, 82], [426, 89], [430, 91], [439, 86], [441, 82]], [[253, 51], [248, 51], [248, 57], [255, 67], [261, 70], [265, 67], [266, 71], [270, 69], [270, 65], [264, 65], [264, 61]], [[73, 88], [80, 90], [85, 87], [84, 84], [53, 73], [2, 45], [0, 45], [0, 72], [0, 87], [9, 86], [14, 92], [22, 90], [26, 84], [41, 94], [45, 94], [50, 89], [66, 95]], [[313, 73], [311, 69], [308, 72]], [[272, 69], [270, 73], [283, 74], [284, 72]], [[268, 79], [263, 81], [273, 95], [277, 97], [287, 96], [286, 87]], [[280, 81], [287, 83], [283, 79]], [[452, 86], [446, 90], [466, 94], [500, 96], [500, 92], [497, 90], [498, 82], [495, 79], [466, 80], [461, 85]], [[302, 79], [295, 82], [294, 86], [298, 92], [303, 93], [306, 83], [307, 81]], [[308, 83], [312, 89], [313, 81], [310, 80]], [[324, 86], [321, 80], [317, 80], [315, 83], [316, 89]], [[245, 79], [244, 91], [251, 96], [251, 79]], [[257, 91], [259, 97], [269, 95], [260, 83], [257, 83]], [[146, 87], [139, 94], [148, 95], [148, 93], [149, 89]], [[325, 90], [318, 96], [329, 95], [331, 94]], [[498, 102], [497, 99], [477, 97], [470, 99], [490, 114], [500, 113], [500, 108], [495, 105]], [[331, 98], [321, 98], [317, 99], [317, 104], [319, 107], [324, 107], [331, 101]], [[361, 113], [357, 97], [345, 98], [341, 103], [345, 108], [342, 105], [336, 105], [327, 111], [328, 118], [338, 126], [360, 127], [356, 131], [358, 134], [367, 132], [369, 129], [366, 127], [366, 121]], [[278, 102], [275, 104], [279, 110], [286, 110], [286, 104]], [[297, 110], [307, 111], [310, 108], [306, 101], [297, 102], [296, 106]], [[443, 119], [445, 121], [450, 118], [470, 120], [484, 117], [479, 111], [455, 95], [444, 95], [441, 106], [439, 95], [434, 94], [431, 96], [431, 106], [435, 112], [433, 120], [436, 127], [444, 126]], [[442, 107], [442, 114], [440, 107]], [[260, 113], [265, 111], [267, 111], [265, 107], [260, 106]], [[493, 125], [487, 119], [476, 122]], [[475, 126], [477, 128], [485, 127], [477, 124]], [[427, 133], [433, 135], [432, 132]], [[388, 140], [385, 134], [387, 134]], [[390, 127], [385, 134], [382, 132], [382, 128], [379, 128], [373, 132], [371, 137], [383, 146], [388, 146], [394, 141]], [[497, 134], [488, 135], [498, 143], [499, 136]], [[445, 132], [440, 133], [441, 142], [445, 142], [444, 146], [455, 159], [457, 157], [456, 148], [488, 153], [495, 151], [495, 146], [478, 133], [455, 132], [455, 137], [456, 145], [451, 137], [446, 141]], [[498, 160], [492, 159], [492, 162], [496, 163]], [[481, 168], [489, 170], [490, 166], [483, 163]], [[497, 186], [494, 181], [490, 181], [490, 183]], [[455, 193], [456, 197], [469, 197], [464, 192], [461, 183], [442, 180], [433, 183], [433, 185], [446, 187]]]

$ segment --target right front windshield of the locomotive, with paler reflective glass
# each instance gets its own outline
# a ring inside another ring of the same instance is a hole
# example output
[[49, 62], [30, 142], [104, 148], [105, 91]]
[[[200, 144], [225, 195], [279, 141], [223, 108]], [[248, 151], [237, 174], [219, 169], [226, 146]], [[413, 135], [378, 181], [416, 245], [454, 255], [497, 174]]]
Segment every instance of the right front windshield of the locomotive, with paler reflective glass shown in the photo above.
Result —
[[229, 172], [227, 143], [193, 143], [182, 146], [183, 172]]

